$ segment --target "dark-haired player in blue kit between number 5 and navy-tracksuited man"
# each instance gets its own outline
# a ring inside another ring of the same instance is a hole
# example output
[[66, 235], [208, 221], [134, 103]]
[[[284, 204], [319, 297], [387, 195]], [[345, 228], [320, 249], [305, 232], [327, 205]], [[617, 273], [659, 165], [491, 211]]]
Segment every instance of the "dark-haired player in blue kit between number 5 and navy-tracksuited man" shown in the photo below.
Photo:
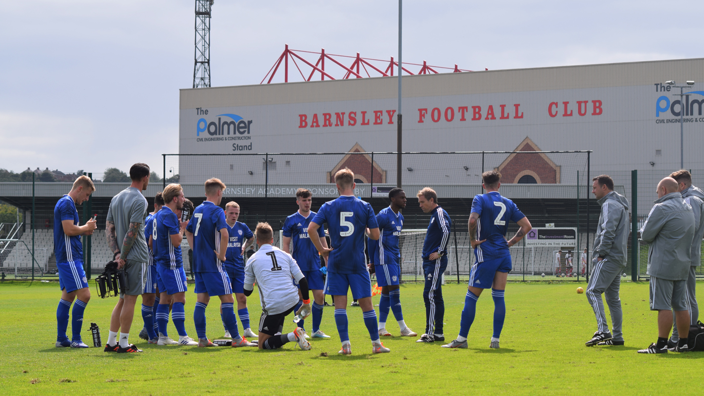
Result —
[[403, 230], [403, 215], [401, 210], [406, 209], [406, 192], [401, 188], [392, 188], [389, 191], [389, 207], [382, 209], [377, 214], [379, 225], [379, 240], [369, 240], [369, 257], [375, 266], [377, 283], [382, 287], [382, 297], [379, 300], [379, 335], [391, 336], [386, 330], [386, 318], [389, 309], [394, 311], [394, 317], [401, 329], [401, 335], [415, 337], [417, 333], [410, 330], [403, 321], [401, 310], [401, 252], [398, 247], [398, 237]]

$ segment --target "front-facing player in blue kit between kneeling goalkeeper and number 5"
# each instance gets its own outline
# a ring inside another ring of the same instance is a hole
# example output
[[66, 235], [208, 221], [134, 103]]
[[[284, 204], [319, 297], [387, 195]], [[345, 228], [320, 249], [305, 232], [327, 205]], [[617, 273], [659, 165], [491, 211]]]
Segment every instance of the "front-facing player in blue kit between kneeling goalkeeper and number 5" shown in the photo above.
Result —
[[[320, 272], [320, 254], [318, 249], [315, 249], [313, 242], [310, 242], [310, 237], [308, 237], [308, 225], [310, 225], [310, 221], [313, 220], [316, 214], [310, 210], [310, 206], [313, 204], [313, 194], [311, 194], [310, 190], [299, 188], [296, 191], [296, 204], [298, 204], [298, 211], [288, 216], [286, 221], [284, 221], [282, 250], [294, 257], [294, 260], [298, 263], [298, 268], [301, 268], [303, 276], [306, 277], [308, 289], [313, 292], [313, 338], [330, 338], [329, 335], [320, 330], [322, 308], [325, 304], [325, 293], [323, 292], [325, 280], [322, 272]], [[327, 247], [325, 228], [322, 228], [322, 226], [318, 228], [318, 237], [322, 238], [320, 240], [322, 247]], [[303, 305], [303, 296], [299, 297], [296, 310]], [[298, 327], [303, 328], [305, 331], [303, 327], [305, 321], [303, 319], [298, 321], [297, 324]]]

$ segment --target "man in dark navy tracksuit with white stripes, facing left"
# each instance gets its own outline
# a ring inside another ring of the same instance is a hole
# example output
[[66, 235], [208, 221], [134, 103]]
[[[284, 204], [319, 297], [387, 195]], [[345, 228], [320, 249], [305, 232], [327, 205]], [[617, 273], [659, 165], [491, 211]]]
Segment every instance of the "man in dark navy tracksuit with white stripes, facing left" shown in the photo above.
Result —
[[442, 298], [442, 275], [447, 268], [447, 243], [452, 221], [445, 209], [437, 204], [438, 197], [432, 188], [425, 187], [416, 196], [420, 209], [430, 214], [421, 254], [425, 277], [425, 333], [416, 342], [444, 341], [445, 302]]

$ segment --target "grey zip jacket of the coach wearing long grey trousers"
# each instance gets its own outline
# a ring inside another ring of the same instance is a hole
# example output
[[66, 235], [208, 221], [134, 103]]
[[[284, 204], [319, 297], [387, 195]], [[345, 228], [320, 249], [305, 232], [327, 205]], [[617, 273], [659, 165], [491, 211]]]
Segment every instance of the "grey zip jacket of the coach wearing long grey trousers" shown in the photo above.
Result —
[[601, 214], [591, 252], [593, 259], [601, 256], [608, 262], [626, 266], [629, 235], [628, 199], [612, 191], [599, 199]]

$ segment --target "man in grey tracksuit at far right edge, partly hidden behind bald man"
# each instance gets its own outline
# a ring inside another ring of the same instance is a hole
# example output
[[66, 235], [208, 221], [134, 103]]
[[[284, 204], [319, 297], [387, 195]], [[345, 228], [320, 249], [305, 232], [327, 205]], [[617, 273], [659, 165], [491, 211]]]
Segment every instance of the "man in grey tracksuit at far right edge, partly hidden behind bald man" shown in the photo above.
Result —
[[[689, 277], [687, 278], [687, 302], [689, 304], [689, 323], [691, 325], [696, 324], [699, 319], [699, 306], [697, 304], [696, 296], [696, 268], [701, 265], [701, 247], [702, 247], [702, 237], [704, 237], [704, 192], [699, 190], [697, 187], [692, 185], [692, 175], [689, 171], [684, 169], [681, 171], [673, 172], [670, 175], [677, 181], [679, 185], [679, 192], [684, 198], [684, 202], [692, 207], [692, 212], [694, 214], [694, 239], [691, 245], [691, 265], [689, 266]], [[674, 345], [679, 337], [677, 335], [677, 326], [672, 330], [672, 342]]]

